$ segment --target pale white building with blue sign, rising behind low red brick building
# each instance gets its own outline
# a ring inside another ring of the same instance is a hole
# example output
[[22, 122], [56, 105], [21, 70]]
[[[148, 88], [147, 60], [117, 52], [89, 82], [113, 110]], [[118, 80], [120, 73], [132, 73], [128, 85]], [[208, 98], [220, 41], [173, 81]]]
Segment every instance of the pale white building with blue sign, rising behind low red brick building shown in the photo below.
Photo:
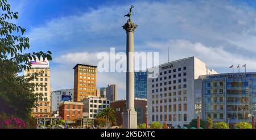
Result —
[[[74, 90], [73, 89], [66, 89], [66, 90], [59, 90], [51, 92], [51, 116], [59, 116], [59, 104], [61, 101], [67, 100], [67, 97], [70, 96], [70, 101], [74, 100]], [[63, 97], [66, 99], [63, 99]]]

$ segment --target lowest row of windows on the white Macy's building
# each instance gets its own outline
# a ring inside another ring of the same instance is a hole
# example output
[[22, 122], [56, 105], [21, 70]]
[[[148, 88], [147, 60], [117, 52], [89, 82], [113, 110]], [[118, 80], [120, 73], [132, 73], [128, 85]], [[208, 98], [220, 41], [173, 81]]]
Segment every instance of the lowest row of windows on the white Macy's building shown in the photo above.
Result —
[[183, 120], [182, 120], [182, 117], [181, 117], [181, 114], [178, 114], [178, 120], [177, 120], [177, 114], [174, 114], [173, 115], [173, 118], [172, 118], [172, 114], [169, 114], [168, 116], [168, 120], [167, 120], [167, 114], [160, 114], [160, 117], [158, 115], [152, 115], [152, 121], [187, 121], [187, 114], [183, 114]]

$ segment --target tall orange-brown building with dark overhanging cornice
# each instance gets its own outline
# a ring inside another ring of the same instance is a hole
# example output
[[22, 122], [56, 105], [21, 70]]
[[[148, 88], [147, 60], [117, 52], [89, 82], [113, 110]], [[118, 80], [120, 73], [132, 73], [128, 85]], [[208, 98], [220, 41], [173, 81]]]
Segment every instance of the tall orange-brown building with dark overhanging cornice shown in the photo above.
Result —
[[74, 101], [96, 96], [97, 66], [77, 64], [74, 69]]

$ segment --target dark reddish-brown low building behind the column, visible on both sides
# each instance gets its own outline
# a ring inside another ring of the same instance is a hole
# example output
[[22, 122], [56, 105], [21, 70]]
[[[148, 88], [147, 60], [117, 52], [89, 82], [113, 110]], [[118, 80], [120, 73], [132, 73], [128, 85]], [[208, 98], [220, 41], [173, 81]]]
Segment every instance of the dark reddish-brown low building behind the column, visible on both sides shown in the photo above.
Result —
[[[137, 124], [146, 123], [146, 105], [147, 99], [135, 97], [134, 107], [135, 111], [137, 111]], [[110, 108], [114, 109], [117, 125], [121, 126], [123, 123], [122, 112], [125, 111], [126, 108], [126, 99], [111, 101]]]

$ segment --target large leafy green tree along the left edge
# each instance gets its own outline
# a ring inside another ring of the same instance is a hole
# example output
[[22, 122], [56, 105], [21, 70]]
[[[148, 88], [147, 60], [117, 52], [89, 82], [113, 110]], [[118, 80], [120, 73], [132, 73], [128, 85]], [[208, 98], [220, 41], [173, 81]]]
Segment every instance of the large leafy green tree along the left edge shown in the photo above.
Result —
[[28, 37], [24, 37], [26, 29], [11, 23], [18, 19], [18, 12], [11, 11], [6, 0], [0, 0], [0, 9], [0, 112], [28, 120], [40, 96], [34, 94], [34, 84], [30, 83], [35, 77], [18, 73], [31, 69], [33, 59], [51, 61], [51, 52], [24, 53], [30, 48]]

